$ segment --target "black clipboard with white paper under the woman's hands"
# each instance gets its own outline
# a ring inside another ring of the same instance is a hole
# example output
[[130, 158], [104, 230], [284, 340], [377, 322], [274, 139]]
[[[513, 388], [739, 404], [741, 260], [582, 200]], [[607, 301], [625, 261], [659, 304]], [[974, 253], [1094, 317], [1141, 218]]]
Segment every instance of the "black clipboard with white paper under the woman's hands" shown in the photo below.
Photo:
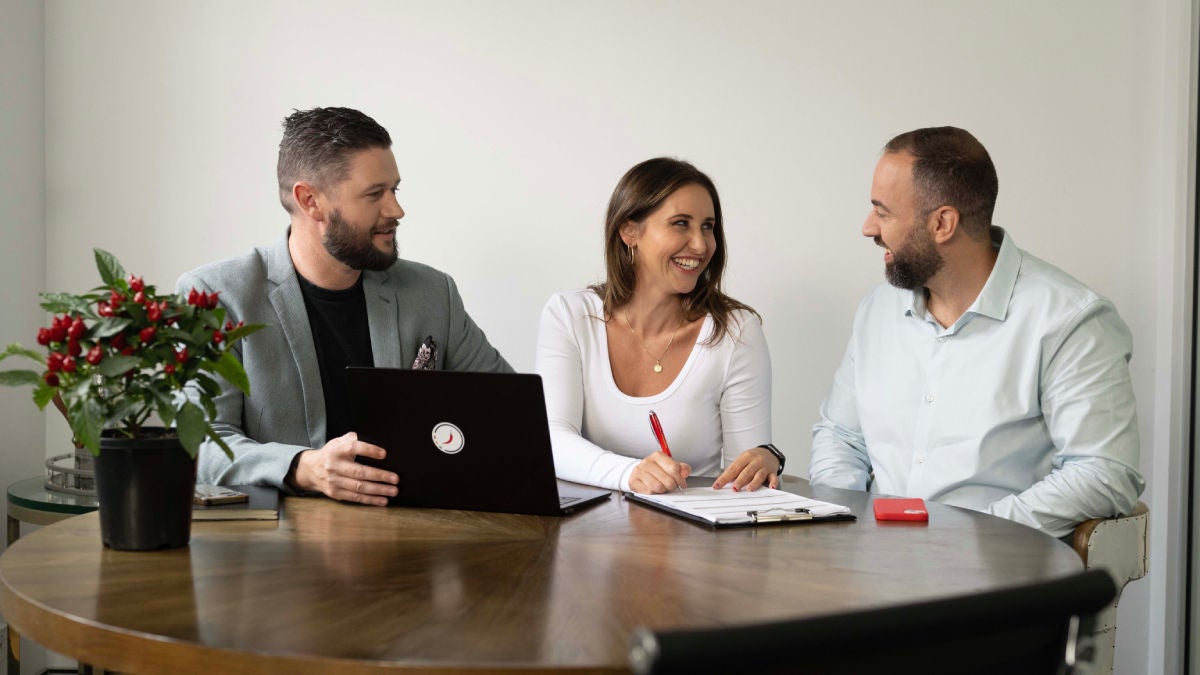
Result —
[[662, 495], [625, 492], [625, 497], [714, 530], [857, 520], [850, 507], [770, 488], [734, 492], [730, 488], [714, 490], [706, 486]]

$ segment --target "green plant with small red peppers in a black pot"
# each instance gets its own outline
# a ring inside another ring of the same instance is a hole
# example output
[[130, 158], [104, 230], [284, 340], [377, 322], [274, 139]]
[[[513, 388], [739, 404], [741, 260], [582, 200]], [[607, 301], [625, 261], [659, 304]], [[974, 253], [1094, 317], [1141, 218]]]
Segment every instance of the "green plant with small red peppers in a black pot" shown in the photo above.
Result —
[[20, 345], [0, 353], [40, 369], [0, 371], [0, 384], [32, 386], [38, 408], [59, 404], [76, 443], [95, 455], [104, 545], [184, 546], [200, 443], [210, 438], [233, 455], [210, 422], [216, 378], [250, 393], [229, 347], [263, 327], [226, 321], [216, 293], [160, 294], [112, 253], [95, 256], [103, 285], [79, 295], [42, 293], [54, 315], [37, 331], [46, 353]]

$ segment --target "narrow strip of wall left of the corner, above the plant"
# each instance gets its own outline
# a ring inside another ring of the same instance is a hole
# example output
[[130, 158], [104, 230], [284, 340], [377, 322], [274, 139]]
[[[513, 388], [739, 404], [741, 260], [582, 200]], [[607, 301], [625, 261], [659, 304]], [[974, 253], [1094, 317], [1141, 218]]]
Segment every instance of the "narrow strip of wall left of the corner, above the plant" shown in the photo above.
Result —
[[[37, 304], [46, 289], [42, 24], [38, 0], [0, 4], [0, 345], [35, 345], [44, 325]], [[44, 472], [36, 413], [28, 387], [0, 387], [0, 486]]]

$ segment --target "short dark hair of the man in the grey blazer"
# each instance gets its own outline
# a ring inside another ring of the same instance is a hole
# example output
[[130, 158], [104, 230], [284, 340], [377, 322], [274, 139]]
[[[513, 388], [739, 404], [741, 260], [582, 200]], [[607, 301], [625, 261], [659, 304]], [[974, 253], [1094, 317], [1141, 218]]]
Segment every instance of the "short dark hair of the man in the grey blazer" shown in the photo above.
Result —
[[388, 130], [352, 108], [294, 110], [283, 120], [280, 141], [280, 202], [294, 213], [292, 186], [307, 180], [326, 190], [350, 172], [350, 156], [370, 148], [391, 148]]

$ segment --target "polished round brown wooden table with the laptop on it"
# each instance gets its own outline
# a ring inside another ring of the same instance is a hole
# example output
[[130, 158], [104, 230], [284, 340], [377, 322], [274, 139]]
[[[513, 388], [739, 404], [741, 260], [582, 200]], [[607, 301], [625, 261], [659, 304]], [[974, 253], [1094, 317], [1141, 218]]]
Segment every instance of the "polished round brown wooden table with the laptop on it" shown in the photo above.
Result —
[[863, 492], [785, 488], [854, 522], [709, 530], [613, 495], [566, 518], [288, 498], [278, 522], [196, 522], [188, 548], [114, 551], [96, 514], [0, 556], [22, 633], [130, 674], [626, 669], [636, 626], [883, 607], [1080, 572], [1062, 542], [930, 503], [876, 522]]

